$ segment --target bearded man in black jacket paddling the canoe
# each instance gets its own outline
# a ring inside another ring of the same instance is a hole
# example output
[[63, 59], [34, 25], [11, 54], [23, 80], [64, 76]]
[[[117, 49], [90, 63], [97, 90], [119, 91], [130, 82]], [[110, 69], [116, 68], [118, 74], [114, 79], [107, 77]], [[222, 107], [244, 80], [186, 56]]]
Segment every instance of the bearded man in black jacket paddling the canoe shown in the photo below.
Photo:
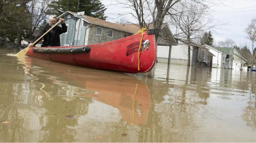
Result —
[[[46, 46], [60, 46], [60, 34], [67, 32], [67, 26], [66, 26], [66, 24], [64, 22], [64, 19], [60, 18], [59, 20], [61, 21], [61, 27], [60, 26], [55, 26], [52, 30], [50, 30], [44, 36], [44, 42], [42, 44], [42, 47], [46, 47]], [[50, 16], [49, 17], [49, 23], [46, 24], [44, 29], [40, 30], [40, 32], [37, 34], [37, 36], [35, 36], [33, 41], [36, 41], [38, 38], [40, 38], [52, 26], [54, 26], [56, 24], [56, 22], [57, 22], [56, 16], [54, 16], [54, 15]], [[35, 44], [37, 44], [38, 42], [36, 42]], [[29, 44], [29, 47], [31, 47], [31, 46], [34, 46], [33, 42]]]

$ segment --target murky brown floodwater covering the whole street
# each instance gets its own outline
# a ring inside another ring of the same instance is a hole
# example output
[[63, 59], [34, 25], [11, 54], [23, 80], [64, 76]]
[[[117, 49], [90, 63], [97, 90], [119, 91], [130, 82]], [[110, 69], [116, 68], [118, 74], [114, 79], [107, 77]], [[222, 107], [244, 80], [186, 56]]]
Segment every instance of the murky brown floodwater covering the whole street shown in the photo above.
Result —
[[0, 48], [0, 142], [256, 142], [256, 72], [157, 63], [153, 77]]

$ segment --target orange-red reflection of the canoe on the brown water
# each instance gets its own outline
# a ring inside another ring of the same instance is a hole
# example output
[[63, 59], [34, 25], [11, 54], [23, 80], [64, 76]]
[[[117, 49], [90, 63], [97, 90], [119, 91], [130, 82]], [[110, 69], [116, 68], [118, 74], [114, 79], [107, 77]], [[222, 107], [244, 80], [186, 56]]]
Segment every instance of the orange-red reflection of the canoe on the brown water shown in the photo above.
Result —
[[[54, 91], [52, 97], [58, 95], [61, 96], [62, 101], [71, 102], [77, 98], [86, 97], [86, 99], [89, 98], [94, 102], [104, 103], [118, 109], [122, 119], [127, 123], [142, 125], [146, 123], [150, 93], [148, 87], [136, 77], [53, 63], [37, 58], [26, 58], [25, 62], [26, 65], [31, 64], [27, 67], [39, 66], [43, 69], [40, 71], [38, 68], [35, 68], [37, 70], [31, 68], [30, 73], [44, 74], [52, 83], [58, 85], [58, 91]], [[50, 73], [44, 71], [44, 68]], [[87, 108], [90, 107], [89, 104]]]

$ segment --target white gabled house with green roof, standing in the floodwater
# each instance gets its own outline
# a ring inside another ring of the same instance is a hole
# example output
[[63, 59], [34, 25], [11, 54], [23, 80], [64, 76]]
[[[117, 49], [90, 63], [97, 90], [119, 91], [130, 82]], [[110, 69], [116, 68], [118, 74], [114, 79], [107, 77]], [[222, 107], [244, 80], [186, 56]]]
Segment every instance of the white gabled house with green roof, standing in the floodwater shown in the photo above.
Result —
[[[208, 52], [210, 52], [212, 55], [203, 54]], [[208, 56], [212, 56], [212, 67], [232, 69], [234, 59], [233, 55], [234, 53], [232, 48], [212, 47], [205, 44], [199, 50], [198, 60], [201, 62], [205, 62], [205, 59]]]

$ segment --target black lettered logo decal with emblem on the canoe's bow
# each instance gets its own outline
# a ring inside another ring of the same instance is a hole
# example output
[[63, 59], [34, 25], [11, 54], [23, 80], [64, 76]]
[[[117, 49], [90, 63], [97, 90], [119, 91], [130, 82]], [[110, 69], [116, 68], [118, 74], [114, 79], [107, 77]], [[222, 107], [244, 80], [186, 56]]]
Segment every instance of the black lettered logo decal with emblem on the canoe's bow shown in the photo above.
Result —
[[128, 46], [126, 46], [126, 56], [129, 56], [130, 54], [134, 53], [134, 52], [138, 52], [138, 50], [140, 52], [144, 51], [146, 49], [146, 51], [148, 51], [148, 47], [150, 45], [149, 40], [142, 40], [142, 46], [139, 49], [139, 41], [138, 42], [134, 42], [129, 44]]

